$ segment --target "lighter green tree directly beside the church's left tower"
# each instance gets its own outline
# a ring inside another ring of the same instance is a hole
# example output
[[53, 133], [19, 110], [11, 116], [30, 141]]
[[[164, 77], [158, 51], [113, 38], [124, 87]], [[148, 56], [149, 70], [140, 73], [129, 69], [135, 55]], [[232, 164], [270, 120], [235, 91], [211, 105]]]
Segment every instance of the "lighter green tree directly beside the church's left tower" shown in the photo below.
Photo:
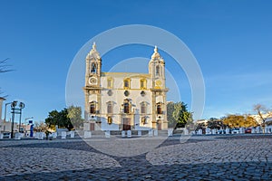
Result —
[[70, 106], [68, 109], [68, 118], [71, 120], [73, 127], [79, 129], [83, 127], [82, 108]]

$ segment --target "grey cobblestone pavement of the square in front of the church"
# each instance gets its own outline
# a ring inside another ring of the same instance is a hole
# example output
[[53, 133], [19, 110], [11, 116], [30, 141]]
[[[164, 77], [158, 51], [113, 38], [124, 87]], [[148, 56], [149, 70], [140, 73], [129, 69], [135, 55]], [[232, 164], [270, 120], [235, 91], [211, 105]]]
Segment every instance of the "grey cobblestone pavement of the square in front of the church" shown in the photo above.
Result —
[[[272, 180], [272, 135], [169, 138], [148, 147], [160, 141], [0, 140], [0, 180]], [[124, 153], [122, 144], [138, 146], [135, 156], [111, 154]]]

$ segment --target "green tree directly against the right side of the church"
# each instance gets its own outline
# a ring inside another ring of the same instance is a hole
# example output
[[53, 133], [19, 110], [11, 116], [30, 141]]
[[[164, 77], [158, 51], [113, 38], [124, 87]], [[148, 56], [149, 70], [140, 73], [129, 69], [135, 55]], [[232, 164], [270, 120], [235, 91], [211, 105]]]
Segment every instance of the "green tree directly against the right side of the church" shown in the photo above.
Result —
[[192, 112], [187, 110], [187, 104], [177, 102], [174, 104], [173, 119], [176, 120], [176, 128], [184, 128], [189, 122], [192, 122]]

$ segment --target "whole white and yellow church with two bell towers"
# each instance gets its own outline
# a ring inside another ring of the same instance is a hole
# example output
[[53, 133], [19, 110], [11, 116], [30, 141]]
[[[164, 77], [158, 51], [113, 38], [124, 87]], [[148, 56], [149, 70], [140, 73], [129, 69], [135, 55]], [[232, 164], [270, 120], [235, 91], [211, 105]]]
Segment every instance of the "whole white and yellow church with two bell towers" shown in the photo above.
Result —
[[165, 62], [155, 47], [149, 73], [102, 72], [93, 43], [86, 56], [84, 130], [168, 129]]

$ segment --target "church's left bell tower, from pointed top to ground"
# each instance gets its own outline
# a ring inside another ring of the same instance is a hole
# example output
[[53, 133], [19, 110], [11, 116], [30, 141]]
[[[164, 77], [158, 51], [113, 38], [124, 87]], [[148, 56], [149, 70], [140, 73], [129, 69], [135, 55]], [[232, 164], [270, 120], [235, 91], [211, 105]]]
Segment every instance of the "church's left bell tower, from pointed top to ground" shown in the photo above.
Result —
[[96, 44], [92, 44], [92, 50], [86, 56], [85, 86], [85, 111], [84, 129], [94, 129], [94, 123], [100, 121], [101, 110], [101, 76], [102, 59], [96, 50]]

